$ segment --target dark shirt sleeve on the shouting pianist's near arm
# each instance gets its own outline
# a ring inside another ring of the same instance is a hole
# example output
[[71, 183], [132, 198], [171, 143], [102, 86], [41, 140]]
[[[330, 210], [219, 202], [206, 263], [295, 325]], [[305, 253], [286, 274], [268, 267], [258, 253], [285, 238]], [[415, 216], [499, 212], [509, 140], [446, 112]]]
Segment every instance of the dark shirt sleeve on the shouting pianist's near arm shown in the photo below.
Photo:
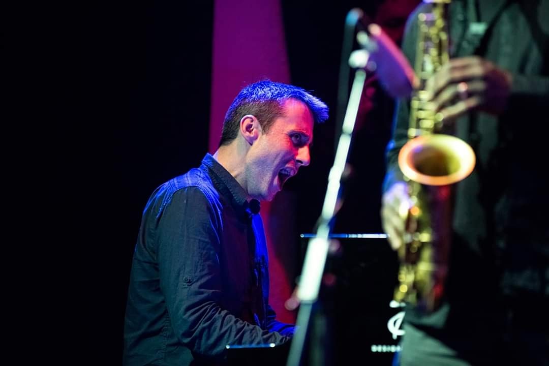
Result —
[[158, 219], [160, 288], [173, 331], [195, 355], [222, 357], [227, 344], [281, 344], [289, 338], [219, 306], [221, 222], [197, 187], [178, 190]]

